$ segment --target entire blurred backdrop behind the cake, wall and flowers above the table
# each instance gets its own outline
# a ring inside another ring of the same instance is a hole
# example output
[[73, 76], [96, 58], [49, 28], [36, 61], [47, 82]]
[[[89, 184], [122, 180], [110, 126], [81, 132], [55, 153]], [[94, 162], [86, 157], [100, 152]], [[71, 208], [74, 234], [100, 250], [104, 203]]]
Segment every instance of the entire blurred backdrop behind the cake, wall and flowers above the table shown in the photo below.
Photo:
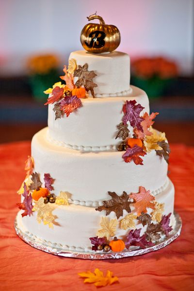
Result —
[[147, 92], [155, 127], [194, 145], [194, 0], [0, 0], [0, 143], [47, 126], [43, 91], [60, 81], [94, 14], [121, 32], [131, 84]]

